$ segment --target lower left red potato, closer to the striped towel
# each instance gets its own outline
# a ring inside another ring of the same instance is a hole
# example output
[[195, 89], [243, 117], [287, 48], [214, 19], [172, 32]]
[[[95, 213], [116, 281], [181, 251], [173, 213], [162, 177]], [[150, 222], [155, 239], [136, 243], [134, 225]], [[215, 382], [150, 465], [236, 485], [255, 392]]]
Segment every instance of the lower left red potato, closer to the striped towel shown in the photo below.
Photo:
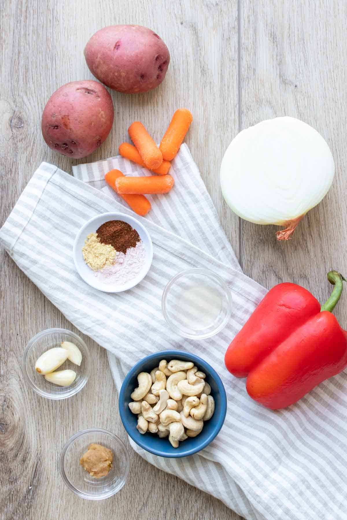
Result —
[[105, 141], [113, 124], [113, 103], [104, 85], [73, 81], [58, 88], [42, 113], [41, 129], [49, 148], [81, 159]]

